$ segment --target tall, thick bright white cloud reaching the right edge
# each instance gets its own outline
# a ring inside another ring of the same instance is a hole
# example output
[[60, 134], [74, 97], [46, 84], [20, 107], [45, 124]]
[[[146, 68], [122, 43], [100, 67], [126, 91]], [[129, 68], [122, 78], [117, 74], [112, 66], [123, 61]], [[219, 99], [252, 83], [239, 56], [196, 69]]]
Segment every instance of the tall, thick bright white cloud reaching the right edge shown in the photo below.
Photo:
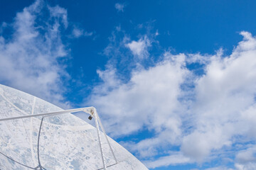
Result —
[[232, 55], [211, 57], [206, 74], [196, 81], [192, 108], [196, 129], [183, 137], [181, 149], [198, 161], [233, 144], [235, 135], [255, 137], [251, 133], [255, 120], [245, 117], [255, 113], [256, 42], [249, 33], [241, 34], [244, 40]]

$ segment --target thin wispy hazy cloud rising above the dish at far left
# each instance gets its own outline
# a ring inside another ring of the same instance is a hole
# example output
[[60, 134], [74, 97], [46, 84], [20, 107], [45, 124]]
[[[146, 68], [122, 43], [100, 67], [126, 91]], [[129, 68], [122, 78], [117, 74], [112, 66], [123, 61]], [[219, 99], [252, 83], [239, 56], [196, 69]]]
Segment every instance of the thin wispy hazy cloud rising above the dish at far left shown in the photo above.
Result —
[[[48, 18], [42, 14], [48, 13]], [[53, 103], [63, 100], [63, 60], [67, 50], [60, 30], [68, 27], [67, 11], [35, 1], [9, 24], [12, 35], [0, 36], [0, 81]]]

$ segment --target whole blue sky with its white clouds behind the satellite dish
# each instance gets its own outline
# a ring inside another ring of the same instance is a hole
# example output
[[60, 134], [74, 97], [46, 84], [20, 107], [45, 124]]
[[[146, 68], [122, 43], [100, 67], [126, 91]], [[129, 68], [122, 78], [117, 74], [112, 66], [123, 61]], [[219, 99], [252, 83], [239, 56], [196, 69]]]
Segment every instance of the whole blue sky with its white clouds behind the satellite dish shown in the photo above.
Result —
[[256, 169], [255, 8], [0, 1], [0, 83], [95, 106], [149, 169]]

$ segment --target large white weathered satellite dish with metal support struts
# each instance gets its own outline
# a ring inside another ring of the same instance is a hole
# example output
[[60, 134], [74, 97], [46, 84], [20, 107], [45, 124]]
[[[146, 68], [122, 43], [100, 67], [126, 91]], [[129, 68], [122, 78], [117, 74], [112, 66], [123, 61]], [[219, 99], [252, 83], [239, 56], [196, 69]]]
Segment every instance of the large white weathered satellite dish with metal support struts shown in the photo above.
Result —
[[0, 109], [0, 169], [147, 169], [106, 135], [93, 107], [63, 110], [0, 84]]

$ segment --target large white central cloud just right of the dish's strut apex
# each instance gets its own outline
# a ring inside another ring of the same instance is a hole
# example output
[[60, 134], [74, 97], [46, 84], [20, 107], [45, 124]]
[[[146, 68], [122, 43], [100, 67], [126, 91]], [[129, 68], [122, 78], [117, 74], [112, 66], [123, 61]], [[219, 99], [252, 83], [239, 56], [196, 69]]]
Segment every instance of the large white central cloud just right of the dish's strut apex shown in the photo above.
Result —
[[[107, 120], [107, 126], [111, 128], [112, 135], [130, 134], [144, 124], [157, 131], [164, 128], [161, 125], [168, 125], [174, 135], [178, 135], [176, 126], [180, 123], [176, 120], [175, 109], [179, 86], [186, 75], [184, 57], [166, 53], [166, 60], [155, 67], [134, 71], [128, 83], [121, 83], [112, 69], [98, 72], [104, 84], [95, 87], [91, 101], [100, 112], [111, 118]], [[102, 96], [99, 89], [107, 95]], [[169, 125], [169, 121], [174, 125]]]

